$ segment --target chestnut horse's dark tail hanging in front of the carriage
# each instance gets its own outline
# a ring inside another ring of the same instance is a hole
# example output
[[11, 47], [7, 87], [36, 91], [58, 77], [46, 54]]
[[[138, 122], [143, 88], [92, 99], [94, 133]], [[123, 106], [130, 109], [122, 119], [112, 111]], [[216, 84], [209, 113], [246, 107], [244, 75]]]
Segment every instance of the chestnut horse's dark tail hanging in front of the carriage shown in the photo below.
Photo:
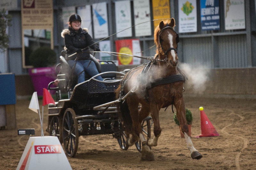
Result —
[[[116, 89], [116, 99], [119, 98], [120, 92], [121, 92], [121, 86], [119, 85], [119, 87]], [[126, 100], [120, 101], [117, 104], [117, 111], [118, 111], [119, 116], [121, 116], [123, 119], [125, 132], [131, 133], [132, 132], [132, 117], [130, 115], [129, 106], [128, 106]]]

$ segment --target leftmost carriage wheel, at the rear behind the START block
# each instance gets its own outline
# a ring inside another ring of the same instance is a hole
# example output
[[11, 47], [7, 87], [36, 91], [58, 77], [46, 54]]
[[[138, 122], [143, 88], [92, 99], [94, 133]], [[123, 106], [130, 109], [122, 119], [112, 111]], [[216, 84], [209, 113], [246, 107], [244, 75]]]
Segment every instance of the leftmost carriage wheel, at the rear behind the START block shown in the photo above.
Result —
[[60, 144], [63, 142], [62, 140], [62, 131], [60, 128], [62, 127], [62, 122], [60, 122], [59, 116], [53, 116], [50, 124], [50, 136], [58, 137]]

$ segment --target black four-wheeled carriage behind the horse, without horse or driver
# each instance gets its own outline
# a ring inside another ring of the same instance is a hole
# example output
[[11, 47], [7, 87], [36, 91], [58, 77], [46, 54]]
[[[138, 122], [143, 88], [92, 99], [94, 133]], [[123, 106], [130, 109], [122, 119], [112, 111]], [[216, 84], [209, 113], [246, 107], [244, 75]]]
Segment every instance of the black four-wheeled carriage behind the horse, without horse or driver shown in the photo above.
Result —
[[[74, 157], [78, 149], [79, 136], [112, 135], [122, 150], [127, 150], [126, 134], [122, 118], [117, 113], [115, 91], [127, 70], [116, 71], [116, 64], [112, 61], [98, 62], [92, 55], [91, 60], [96, 64], [100, 76], [104, 81], [89, 78], [80, 84], [75, 84], [76, 76], [71, 75], [71, 69], [63, 56], [56, 66], [58, 87], [48, 90], [56, 91], [55, 104], [48, 105], [47, 132], [50, 136], [59, 138], [64, 145], [64, 151], [69, 157]], [[101, 64], [100, 64], [101, 63]], [[62, 99], [63, 96], [67, 99]], [[146, 137], [150, 138], [150, 119], [142, 122], [142, 129]], [[141, 152], [141, 142], [135, 144]]]

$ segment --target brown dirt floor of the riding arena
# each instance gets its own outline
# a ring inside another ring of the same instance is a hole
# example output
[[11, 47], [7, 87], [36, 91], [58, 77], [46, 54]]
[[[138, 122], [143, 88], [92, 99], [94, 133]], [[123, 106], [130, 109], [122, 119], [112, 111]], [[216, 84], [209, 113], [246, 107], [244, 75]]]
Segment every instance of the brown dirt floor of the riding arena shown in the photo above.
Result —
[[[173, 121], [171, 107], [161, 109], [162, 135], [158, 145], [152, 147], [155, 161], [141, 161], [135, 146], [127, 151], [119, 148], [117, 140], [108, 135], [79, 137], [75, 158], [68, 158], [73, 170], [103, 169], [256, 169], [256, 104], [252, 99], [222, 99], [184, 97], [186, 107], [192, 111], [192, 142], [203, 155], [200, 160], [190, 158], [185, 138]], [[17, 129], [35, 128], [40, 136], [39, 115], [28, 109], [30, 100], [17, 100]], [[42, 100], [39, 100], [42, 108]], [[219, 137], [200, 137], [200, 111], [204, 112]], [[47, 106], [44, 107], [44, 130], [47, 123]], [[28, 142], [28, 136], [18, 136], [15, 130], [0, 130], [0, 169], [16, 169]], [[153, 131], [153, 129], [152, 129]], [[44, 131], [45, 136], [49, 134]], [[152, 134], [152, 133], [151, 133]], [[152, 134], [153, 135], [153, 134]]]

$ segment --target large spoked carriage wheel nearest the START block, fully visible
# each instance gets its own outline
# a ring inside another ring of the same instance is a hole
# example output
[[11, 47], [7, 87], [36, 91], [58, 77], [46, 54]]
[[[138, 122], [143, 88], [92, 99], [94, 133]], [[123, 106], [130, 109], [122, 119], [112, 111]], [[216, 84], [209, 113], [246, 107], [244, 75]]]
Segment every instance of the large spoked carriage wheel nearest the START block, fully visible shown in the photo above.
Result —
[[74, 157], [76, 155], [78, 147], [79, 132], [77, 120], [75, 119], [75, 117], [75, 111], [71, 108], [68, 108], [65, 111], [63, 117], [63, 144], [64, 150], [69, 157]]

